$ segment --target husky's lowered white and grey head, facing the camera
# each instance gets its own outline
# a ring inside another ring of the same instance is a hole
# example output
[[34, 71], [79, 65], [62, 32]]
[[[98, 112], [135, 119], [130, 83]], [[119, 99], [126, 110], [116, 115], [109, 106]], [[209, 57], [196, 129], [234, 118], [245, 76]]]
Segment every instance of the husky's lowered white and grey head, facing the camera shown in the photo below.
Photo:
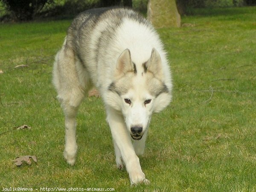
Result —
[[135, 64], [129, 49], [125, 49], [117, 59], [114, 79], [108, 87], [112, 94], [107, 103], [122, 112], [131, 137], [140, 140], [152, 113], [163, 110], [171, 101], [171, 87], [165, 84], [159, 53], [153, 48], [148, 61]]

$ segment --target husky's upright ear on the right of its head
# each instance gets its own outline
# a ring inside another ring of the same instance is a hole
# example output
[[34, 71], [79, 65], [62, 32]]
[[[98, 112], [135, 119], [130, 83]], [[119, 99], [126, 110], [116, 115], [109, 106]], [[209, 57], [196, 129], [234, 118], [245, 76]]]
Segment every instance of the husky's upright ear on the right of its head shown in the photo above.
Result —
[[162, 61], [159, 53], [155, 48], [151, 51], [150, 59], [145, 63], [145, 70], [150, 71], [154, 74], [157, 79], [163, 79], [163, 68], [162, 68]]

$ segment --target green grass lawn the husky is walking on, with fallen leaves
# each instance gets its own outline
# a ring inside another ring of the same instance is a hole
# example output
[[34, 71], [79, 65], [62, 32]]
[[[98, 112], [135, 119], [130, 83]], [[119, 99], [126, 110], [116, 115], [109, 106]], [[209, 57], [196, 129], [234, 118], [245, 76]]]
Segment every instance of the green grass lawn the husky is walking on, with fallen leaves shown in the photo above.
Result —
[[[81, 105], [76, 165], [64, 161], [64, 117], [51, 71], [71, 21], [1, 24], [0, 190], [255, 192], [256, 7], [216, 10], [196, 10], [182, 18], [187, 27], [159, 30], [172, 67], [173, 102], [151, 120], [140, 157], [151, 184], [137, 187], [115, 167], [101, 99]], [[28, 67], [14, 69], [20, 64]], [[24, 124], [31, 129], [14, 129]], [[12, 162], [28, 154], [38, 162]]]

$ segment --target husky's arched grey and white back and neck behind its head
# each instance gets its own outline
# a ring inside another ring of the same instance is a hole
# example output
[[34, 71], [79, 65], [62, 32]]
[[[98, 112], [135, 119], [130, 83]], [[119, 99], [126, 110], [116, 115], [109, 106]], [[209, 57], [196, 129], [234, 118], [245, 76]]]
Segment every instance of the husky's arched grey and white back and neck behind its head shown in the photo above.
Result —
[[[82, 12], [68, 29], [66, 46], [73, 50], [80, 61], [77, 65], [81, 66], [77, 68], [87, 70], [99, 91], [113, 81], [113, 68], [124, 49], [131, 51], [137, 69], [142, 69], [153, 47], [160, 53], [163, 64], [168, 65], [163, 45], [154, 28], [142, 15], [131, 9], [100, 8]], [[169, 68], [166, 71], [169, 73]]]

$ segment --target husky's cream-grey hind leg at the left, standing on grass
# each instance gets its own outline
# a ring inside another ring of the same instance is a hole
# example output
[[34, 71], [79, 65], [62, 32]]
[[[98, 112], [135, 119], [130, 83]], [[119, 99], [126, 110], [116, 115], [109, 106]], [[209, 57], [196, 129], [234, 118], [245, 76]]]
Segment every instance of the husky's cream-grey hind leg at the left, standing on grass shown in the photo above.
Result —
[[76, 113], [85, 90], [79, 81], [77, 62], [73, 50], [66, 46], [65, 41], [55, 58], [53, 84], [65, 115], [64, 158], [70, 165], [74, 165], [76, 161]]

